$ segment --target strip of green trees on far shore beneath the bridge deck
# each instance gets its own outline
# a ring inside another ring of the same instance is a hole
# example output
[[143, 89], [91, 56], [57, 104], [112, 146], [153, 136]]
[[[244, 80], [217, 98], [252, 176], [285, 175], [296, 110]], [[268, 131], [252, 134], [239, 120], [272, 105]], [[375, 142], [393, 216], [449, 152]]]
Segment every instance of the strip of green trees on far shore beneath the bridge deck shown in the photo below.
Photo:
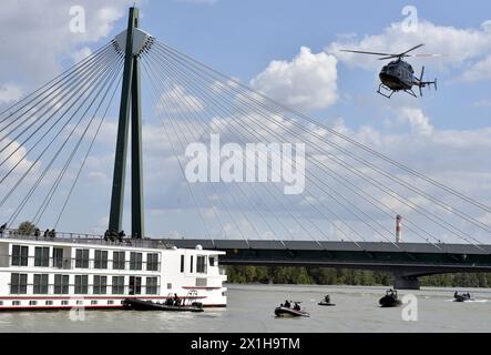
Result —
[[[301, 284], [392, 286], [393, 275], [383, 272], [325, 267], [227, 266], [233, 284]], [[491, 287], [491, 274], [442, 274], [420, 277], [429, 287]]]

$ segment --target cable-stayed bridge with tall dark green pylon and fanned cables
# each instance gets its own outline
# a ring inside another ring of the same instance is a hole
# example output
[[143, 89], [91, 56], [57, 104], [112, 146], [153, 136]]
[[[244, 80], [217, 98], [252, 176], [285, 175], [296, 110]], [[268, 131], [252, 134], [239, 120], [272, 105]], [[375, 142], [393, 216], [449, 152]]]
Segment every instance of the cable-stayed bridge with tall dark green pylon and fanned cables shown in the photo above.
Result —
[[[385, 270], [406, 287], [488, 271], [491, 207], [388, 155], [161, 42], [133, 8], [126, 31], [0, 111], [0, 219], [134, 239], [146, 222], [227, 264]], [[110, 189], [90, 181], [108, 171]]]

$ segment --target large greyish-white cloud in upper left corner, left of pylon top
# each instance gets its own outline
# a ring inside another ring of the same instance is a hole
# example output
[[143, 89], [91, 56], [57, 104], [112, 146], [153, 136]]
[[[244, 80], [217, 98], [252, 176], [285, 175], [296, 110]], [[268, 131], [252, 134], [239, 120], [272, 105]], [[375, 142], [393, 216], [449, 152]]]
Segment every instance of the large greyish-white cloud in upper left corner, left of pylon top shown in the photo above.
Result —
[[[104, 39], [116, 20], [125, 16], [133, 0], [81, 0], [85, 33], [73, 33], [70, 9], [74, 3], [58, 0], [4, 0], [0, 12], [2, 55], [0, 75], [9, 81], [33, 84], [52, 79], [67, 58], [80, 48]], [[140, 1], [137, 1], [140, 2]], [[72, 54], [71, 54], [72, 53]], [[35, 83], [35, 82], [34, 82]]]

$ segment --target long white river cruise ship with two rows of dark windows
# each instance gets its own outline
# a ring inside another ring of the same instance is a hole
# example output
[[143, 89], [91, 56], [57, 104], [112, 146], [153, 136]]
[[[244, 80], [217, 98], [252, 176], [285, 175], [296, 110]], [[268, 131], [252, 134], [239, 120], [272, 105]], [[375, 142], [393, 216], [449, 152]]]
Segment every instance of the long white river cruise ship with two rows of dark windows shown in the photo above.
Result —
[[0, 312], [122, 308], [124, 300], [177, 295], [225, 307], [223, 252], [177, 248], [157, 240], [111, 241], [57, 233], [0, 234]]

